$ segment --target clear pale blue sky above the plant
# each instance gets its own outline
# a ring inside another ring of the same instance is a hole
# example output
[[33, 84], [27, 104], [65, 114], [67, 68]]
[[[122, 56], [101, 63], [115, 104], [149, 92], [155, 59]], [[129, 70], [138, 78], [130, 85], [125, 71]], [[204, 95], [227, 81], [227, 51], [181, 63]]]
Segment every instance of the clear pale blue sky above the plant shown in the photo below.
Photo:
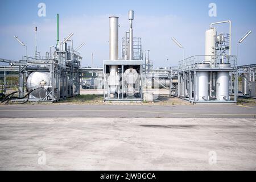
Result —
[[[38, 16], [38, 4], [46, 4], [46, 17]], [[128, 4], [129, 2], [129, 4]], [[216, 3], [217, 17], [208, 15], [209, 3]], [[150, 49], [155, 67], [177, 65], [182, 52], [171, 42], [174, 36], [185, 47], [185, 56], [203, 55], [205, 30], [219, 20], [233, 22], [233, 54], [236, 42], [247, 30], [253, 33], [240, 45], [239, 63], [256, 63], [256, 1], [11, 1], [0, 2], [0, 57], [21, 59], [25, 51], [13, 38], [17, 35], [34, 54], [34, 26], [38, 26], [38, 49], [42, 55], [56, 44], [56, 14], [60, 14], [60, 39], [73, 32], [75, 47], [81, 42], [82, 65], [90, 65], [94, 53], [95, 65], [109, 58], [109, 15], [118, 15], [119, 37], [127, 30], [127, 11], [134, 10], [134, 35], [142, 37], [143, 49]], [[217, 29], [228, 32], [228, 26]], [[121, 47], [119, 47], [121, 50]], [[121, 55], [121, 52], [119, 52]], [[169, 59], [167, 61], [167, 58]]]

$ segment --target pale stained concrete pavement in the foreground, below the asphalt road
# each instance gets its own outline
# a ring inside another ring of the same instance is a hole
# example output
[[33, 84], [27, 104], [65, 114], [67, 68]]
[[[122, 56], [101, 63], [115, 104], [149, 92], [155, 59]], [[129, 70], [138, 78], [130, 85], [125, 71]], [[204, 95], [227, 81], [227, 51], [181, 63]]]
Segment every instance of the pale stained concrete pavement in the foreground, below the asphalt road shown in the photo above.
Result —
[[255, 122], [1, 118], [0, 170], [256, 170]]

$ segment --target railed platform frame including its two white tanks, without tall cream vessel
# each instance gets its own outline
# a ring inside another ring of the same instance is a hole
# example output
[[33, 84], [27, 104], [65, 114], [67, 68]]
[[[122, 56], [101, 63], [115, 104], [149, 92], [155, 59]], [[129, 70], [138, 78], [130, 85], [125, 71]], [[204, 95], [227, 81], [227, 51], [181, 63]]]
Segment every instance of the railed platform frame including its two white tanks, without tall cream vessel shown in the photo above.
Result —
[[204, 63], [204, 55], [181, 60], [176, 76], [178, 91], [172, 95], [192, 103], [237, 102], [236, 56], [221, 56], [215, 60], [216, 64], [212, 65]]

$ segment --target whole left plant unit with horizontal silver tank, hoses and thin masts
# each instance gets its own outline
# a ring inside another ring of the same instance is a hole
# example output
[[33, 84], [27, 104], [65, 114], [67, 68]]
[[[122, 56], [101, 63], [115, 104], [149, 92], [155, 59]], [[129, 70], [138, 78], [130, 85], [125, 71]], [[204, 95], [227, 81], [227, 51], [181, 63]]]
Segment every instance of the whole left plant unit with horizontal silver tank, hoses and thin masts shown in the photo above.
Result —
[[[37, 27], [35, 27], [35, 35], [37, 31]], [[4, 92], [6, 92], [6, 88], [8, 87], [7, 77], [18, 76], [19, 78], [18, 86], [16, 86], [17, 89], [9, 94], [6, 93], [2, 102], [57, 102], [79, 95], [79, 68], [81, 67], [82, 57], [78, 50], [84, 43], [74, 49], [73, 41], [69, 40], [71, 36], [73, 36], [73, 33], [69, 34], [67, 38], [60, 42], [58, 14], [57, 44], [54, 52], [47, 52], [46, 56], [41, 56], [35, 46], [34, 56], [26, 55], [19, 61], [0, 59], [1, 62], [10, 64], [8, 67], [1, 68], [4, 78], [2, 86]], [[14, 38], [22, 46], [25, 46], [17, 36], [14, 36]], [[7, 75], [9, 71], [18, 73], [18, 75]], [[19, 93], [19, 97], [14, 96], [16, 93]]]

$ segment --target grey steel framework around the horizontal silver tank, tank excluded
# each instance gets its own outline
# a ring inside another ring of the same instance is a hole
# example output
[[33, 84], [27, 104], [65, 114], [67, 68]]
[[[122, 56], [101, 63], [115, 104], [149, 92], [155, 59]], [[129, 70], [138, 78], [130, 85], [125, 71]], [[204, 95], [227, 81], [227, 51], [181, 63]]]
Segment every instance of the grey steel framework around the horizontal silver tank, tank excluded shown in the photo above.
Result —
[[[49, 73], [49, 85], [47, 87], [40, 86], [38, 89], [44, 90], [46, 96], [43, 98], [36, 98], [31, 94], [28, 95], [28, 101], [47, 101], [56, 102], [67, 97], [73, 97], [80, 94], [80, 77], [79, 68], [82, 57], [77, 51], [73, 51], [72, 47], [67, 48], [67, 43], [64, 44], [65, 48], [57, 45], [53, 55], [47, 56], [23, 56], [20, 61], [0, 61], [9, 63], [9, 67], [2, 67], [1, 71], [4, 72], [4, 85], [7, 85], [6, 77], [8, 71], [16, 71], [19, 77], [19, 97], [22, 98], [28, 93], [27, 78], [33, 72], [46, 72]], [[60, 51], [62, 50], [62, 51]], [[27, 99], [19, 99], [13, 101], [24, 101]]]

